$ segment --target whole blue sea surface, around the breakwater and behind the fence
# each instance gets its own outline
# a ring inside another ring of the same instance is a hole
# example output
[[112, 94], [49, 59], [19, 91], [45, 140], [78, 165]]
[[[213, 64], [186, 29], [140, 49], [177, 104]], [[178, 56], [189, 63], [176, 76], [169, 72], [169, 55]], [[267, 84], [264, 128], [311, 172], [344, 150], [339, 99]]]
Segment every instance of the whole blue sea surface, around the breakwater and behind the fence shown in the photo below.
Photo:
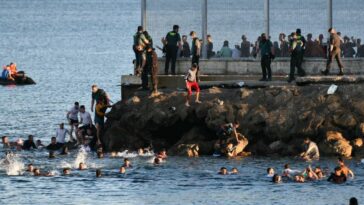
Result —
[[[148, 2], [154, 2], [148, 6], [148, 25], [157, 45], [173, 24], [180, 24], [183, 34], [200, 31], [201, 5], [196, 0]], [[209, 33], [215, 48], [225, 39], [239, 43], [243, 33], [255, 39], [263, 31], [262, 2], [211, 0]], [[325, 34], [325, 2], [273, 0], [272, 36], [292, 31], [297, 22], [304, 33]], [[362, 27], [353, 22], [363, 21], [359, 17], [364, 2], [335, 2], [338, 28], [361, 37]], [[66, 122], [66, 112], [75, 101], [89, 109], [94, 83], [118, 101], [120, 76], [132, 72], [134, 54], [130, 48], [140, 23], [139, 7], [139, 0], [0, 0], [0, 64], [16, 62], [19, 70], [37, 82], [33, 86], [0, 87], [0, 135], [13, 141], [33, 134], [47, 144], [57, 124]], [[295, 12], [294, 7], [305, 9]], [[166, 15], [169, 21], [164, 20]], [[0, 155], [4, 158], [3, 153]], [[60, 170], [77, 164], [80, 155], [75, 151], [50, 161], [45, 151], [20, 152], [11, 159], [11, 166], [1, 161], [0, 204], [346, 204], [352, 196], [364, 201], [364, 166], [357, 164], [358, 160], [348, 162], [357, 176], [344, 185], [325, 181], [273, 185], [264, 177], [268, 166], [281, 171], [287, 161], [299, 169], [306, 164], [270, 158], [171, 158], [155, 167], [150, 156], [120, 154], [99, 160], [89, 153], [82, 155], [89, 166], [87, 171], [61, 176]], [[134, 168], [120, 176], [117, 169], [123, 156], [131, 157]], [[9, 176], [18, 174], [29, 162], [56, 176]], [[320, 164], [333, 169], [334, 162], [324, 159]], [[221, 166], [238, 167], [240, 174], [218, 176]], [[105, 176], [96, 179], [95, 168], [101, 168]]]

